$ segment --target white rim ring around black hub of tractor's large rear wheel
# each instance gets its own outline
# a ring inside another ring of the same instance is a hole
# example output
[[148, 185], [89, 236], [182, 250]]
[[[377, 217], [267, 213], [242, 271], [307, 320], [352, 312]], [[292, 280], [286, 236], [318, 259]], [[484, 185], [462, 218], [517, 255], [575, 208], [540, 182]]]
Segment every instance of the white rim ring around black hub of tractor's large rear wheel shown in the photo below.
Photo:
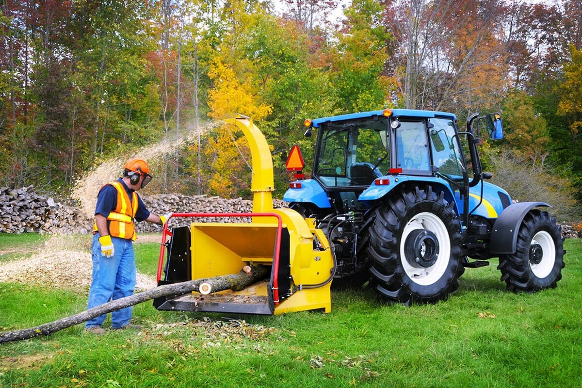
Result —
[[[406, 238], [416, 229], [430, 230], [437, 236], [439, 243], [439, 253], [435, 264], [428, 268], [416, 268], [406, 260], [404, 255], [404, 242]], [[450, 238], [448, 230], [442, 220], [435, 214], [429, 212], [418, 213], [404, 226], [402, 237], [400, 238], [400, 262], [406, 275], [414, 283], [421, 286], [429, 286], [441, 279], [445, 273], [450, 259]]]

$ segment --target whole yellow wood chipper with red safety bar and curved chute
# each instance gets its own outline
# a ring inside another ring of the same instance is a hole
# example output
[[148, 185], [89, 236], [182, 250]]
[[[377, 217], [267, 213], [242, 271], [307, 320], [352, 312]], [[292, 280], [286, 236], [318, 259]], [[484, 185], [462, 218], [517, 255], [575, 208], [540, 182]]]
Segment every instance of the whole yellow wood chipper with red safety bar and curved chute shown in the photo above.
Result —
[[[157, 298], [154, 306], [160, 310], [267, 315], [311, 309], [329, 312], [335, 261], [327, 238], [315, 228], [315, 220], [304, 219], [292, 209], [273, 209], [273, 166], [265, 137], [249, 118], [228, 119], [226, 123], [239, 126], [249, 141], [253, 212], [173, 213], [174, 218], [193, 217], [194, 222], [171, 231], [166, 223], [158, 286], [195, 279], [228, 279], [245, 266], [264, 266], [267, 276], [242, 290], [206, 294], [201, 287], [201, 293]], [[201, 217], [225, 221], [247, 217], [251, 222], [196, 222]], [[167, 243], [166, 236], [171, 236]]]

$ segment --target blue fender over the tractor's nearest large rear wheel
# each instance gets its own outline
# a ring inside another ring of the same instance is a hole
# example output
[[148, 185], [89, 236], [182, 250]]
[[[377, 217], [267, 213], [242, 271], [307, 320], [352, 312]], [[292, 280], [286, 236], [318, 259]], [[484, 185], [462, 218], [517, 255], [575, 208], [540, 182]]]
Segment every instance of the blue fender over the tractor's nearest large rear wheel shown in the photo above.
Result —
[[418, 187], [424, 186], [431, 186], [432, 190], [436, 193], [443, 193], [444, 198], [449, 204], [452, 202], [454, 204], [455, 213], [459, 215], [459, 207], [457, 202], [455, 201], [455, 197], [453, 195], [453, 191], [450, 190], [450, 187], [446, 184], [443, 184], [442, 179], [437, 179], [434, 177], [424, 177], [423, 179], [418, 179], [418, 177], [414, 176], [406, 176], [406, 175], [388, 175], [378, 178], [377, 180], [388, 180], [388, 184], [377, 185], [376, 181], [370, 185], [363, 193], [360, 194], [358, 200], [360, 202], [364, 202], [365, 205], [368, 207], [372, 206], [374, 201], [377, 201], [381, 198], [384, 198], [388, 195], [392, 190], [401, 186], [404, 183], [411, 183]]

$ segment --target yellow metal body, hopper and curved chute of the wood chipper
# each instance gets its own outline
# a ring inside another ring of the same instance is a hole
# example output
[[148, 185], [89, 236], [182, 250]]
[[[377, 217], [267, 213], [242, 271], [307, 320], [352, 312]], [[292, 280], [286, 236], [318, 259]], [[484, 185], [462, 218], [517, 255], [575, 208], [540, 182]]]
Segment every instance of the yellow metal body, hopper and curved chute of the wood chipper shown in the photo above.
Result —
[[[288, 289], [279, 289], [279, 300], [272, 301], [273, 314], [310, 309], [331, 311], [329, 280], [333, 257], [327, 239], [321, 230], [315, 229], [314, 220], [303, 219], [292, 209], [273, 209], [271, 150], [261, 131], [247, 118], [229, 119], [226, 123], [239, 126], [249, 140], [253, 157], [253, 213], [281, 216], [285, 243], [275, 247], [278, 225], [275, 217], [257, 216], [251, 223], [192, 223], [191, 279], [237, 273], [249, 263], [272, 266], [275, 249], [281, 249], [290, 279], [282, 282]], [[268, 283], [237, 292], [222, 291], [215, 297], [218, 300], [225, 294], [233, 294], [240, 297], [237, 300], [244, 300], [245, 296], [268, 296], [273, 291], [268, 289], [274, 284], [273, 272]], [[204, 298], [210, 301], [213, 294]]]

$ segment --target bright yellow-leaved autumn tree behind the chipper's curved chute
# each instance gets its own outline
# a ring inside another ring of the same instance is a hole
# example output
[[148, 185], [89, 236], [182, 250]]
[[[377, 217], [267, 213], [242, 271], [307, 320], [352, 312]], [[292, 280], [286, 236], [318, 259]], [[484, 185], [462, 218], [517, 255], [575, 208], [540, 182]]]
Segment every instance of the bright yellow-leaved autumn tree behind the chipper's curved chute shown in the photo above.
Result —
[[[240, 113], [260, 122], [271, 112], [271, 106], [262, 102], [257, 94], [254, 64], [236, 45], [236, 42], [244, 40], [252, 19], [247, 9], [261, 12], [258, 4], [244, 1], [233, 1], [222, 10], [228, 32], [217, 46], [208, 72], [214, 83], [214, 88], [208, 92], [208, 115], [215, 120]], [[222, 125], [210, 133], [201, 147], [211, 161], [208, 169], [203, 170], [210, 177], [208, 185], [211, 193], [227, 198], [250, 194], [247, 193], [250, 187], [250, 152], [240, 130]]]

